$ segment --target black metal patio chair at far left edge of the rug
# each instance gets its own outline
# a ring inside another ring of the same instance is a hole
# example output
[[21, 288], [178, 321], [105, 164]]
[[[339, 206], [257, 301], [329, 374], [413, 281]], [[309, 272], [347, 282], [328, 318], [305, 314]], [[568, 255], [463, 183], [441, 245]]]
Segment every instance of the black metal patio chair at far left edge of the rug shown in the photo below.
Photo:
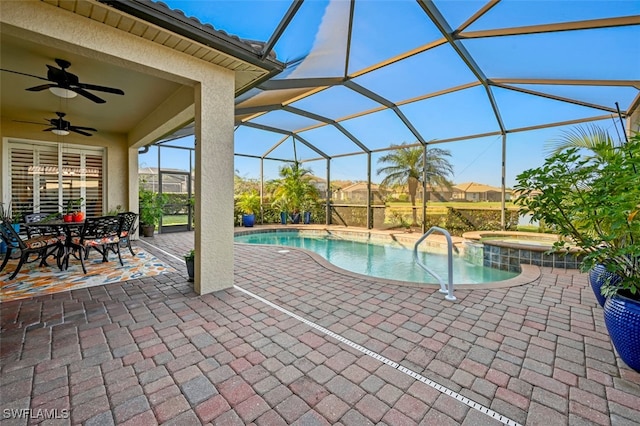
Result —
[[[63, 249], [63, 244], [59, 236], [57, 235], [38, 235], [33, 238], [23, 239], [10, 223], [0, 222], [0, 236], [2, 240], [7, 245], [7, 252], [5, 254], [2, 265], [0, 266], [0, 271], [7, 266], [9, 259], [11, 258], [11, 253], [14, 250], [20, 250], [20, 261], [18, 262], [18, 266], [16, 266], [13, 274], [9, 276], [9, 280], [12, 280], [18, 275], [22, 265], [27, 262], [35, 262], [38, 259], [40, 260], [40, 266], [48, 266], [46, 260], [54, 251], [58, 251], [57, 258], [59, 259], [61, 250]], [[36, 254], [37, 257], [29, 260], [29, 257]], [[61, 267], [60, 262], [58, 261], [58, 267]]]

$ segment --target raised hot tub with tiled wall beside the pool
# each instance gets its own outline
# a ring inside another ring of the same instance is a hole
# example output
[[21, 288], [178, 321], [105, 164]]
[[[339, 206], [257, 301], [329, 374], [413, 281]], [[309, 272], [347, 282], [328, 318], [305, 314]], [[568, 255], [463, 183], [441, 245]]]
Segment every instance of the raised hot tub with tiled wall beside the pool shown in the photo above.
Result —
[[518, 271], [520, 264], [577, 269], [581, 256], [577, 249], [568, 253], [548, 253], [558, 235], [519, 231], [465, 232], [465, 250], [482, 256], [482, 264], [505, 271]]

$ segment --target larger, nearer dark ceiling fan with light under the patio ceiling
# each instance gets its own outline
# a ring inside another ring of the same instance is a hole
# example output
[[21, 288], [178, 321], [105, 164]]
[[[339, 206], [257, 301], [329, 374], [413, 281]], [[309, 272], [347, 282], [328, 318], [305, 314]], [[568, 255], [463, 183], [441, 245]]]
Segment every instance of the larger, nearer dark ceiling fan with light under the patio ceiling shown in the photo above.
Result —
[[[56, 64], [60, 68], [56, 68], [52, 65], [47, 64], [47, 78], [39, 77], [33, 74], [27, 74], [19, 71], [7, 70], [4, 68], [0, 68], [2, 71], [12, 72], [14, 74], [26, 75], [28, 77], [34, 77], [40, 80], [49, 81], [49, 84], [42, 84], [40, 86], [29, 87], [26, 90], [31, 92], [39, 92], [41, 90], [50, 89], [54, 94], [63, 97], [63, 98], [71, 98], [75, 97], [75, 93], [78, 95], [84, 96], [87, 99], [92, 100], [93, 102], [103, 104], [106, 101], [88, 90], [97, 90], [99, 92], [113, 93], [115, 95], [124, 95], [124, 92], [120, 89], [116, 89], [113, 87], [105, 87], [105, 86], [97, 86], [95, 84], [88, 83], [80, 83], [78, 76], [75, 74], [71, 74], [67, 71], [67, 68], [71, 66], [69, 61], [65, 61], [64, 59], [56, 59]], [[71, 92], [71, 93], [69, 93]]]

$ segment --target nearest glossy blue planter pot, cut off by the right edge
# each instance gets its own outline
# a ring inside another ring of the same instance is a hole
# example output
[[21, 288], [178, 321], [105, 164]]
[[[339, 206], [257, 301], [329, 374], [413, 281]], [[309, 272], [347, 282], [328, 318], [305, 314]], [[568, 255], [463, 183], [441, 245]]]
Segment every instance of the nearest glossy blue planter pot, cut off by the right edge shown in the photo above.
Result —
[[640, 300], [609, 297], [604, 304], [604, 323], [620, 358], [640, 372]]

